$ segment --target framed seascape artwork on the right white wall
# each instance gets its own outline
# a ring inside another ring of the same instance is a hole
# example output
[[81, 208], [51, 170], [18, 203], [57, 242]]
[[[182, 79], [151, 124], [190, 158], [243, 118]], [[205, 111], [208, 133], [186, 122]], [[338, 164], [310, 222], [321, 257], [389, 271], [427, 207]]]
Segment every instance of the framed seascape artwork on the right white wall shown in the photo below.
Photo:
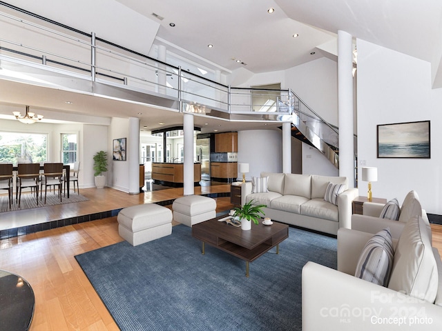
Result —
[[430, 159], [430, 121], [378, 125], [378, 158]]

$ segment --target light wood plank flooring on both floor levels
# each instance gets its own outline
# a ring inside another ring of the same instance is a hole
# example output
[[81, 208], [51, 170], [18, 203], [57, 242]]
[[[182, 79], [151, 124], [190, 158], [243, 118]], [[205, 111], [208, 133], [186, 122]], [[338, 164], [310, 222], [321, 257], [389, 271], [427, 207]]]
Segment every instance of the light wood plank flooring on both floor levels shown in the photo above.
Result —
[[[222, 188], [224, 186], [224, 188]], [[229, 185], [195, 188], [195, 194], [229, 192]], [[48, 218], [72, 217], [138, 203], [158, 202], [182, 196], [182, 189], [144, 194], [117, 190], [85, 189], [90, 201], [81, 206], [60, 205], [47, 209]], [[230, 198], [216, 198], [217, 212], [231, 209]], [[26, 211], [21, 211], [26, 215]], [[29, 214], [28, 214], [29, 215]], [[442, 225], [432, 225], [433, 243], [442, 252]], [[0, 269], [20, 274], [35, 292], [35, 316], [30, 330], [118, 330], [115, 321], [90, 285], [75, 255], [122, 241], [116, 217], [36, 232], [0, 241]]]

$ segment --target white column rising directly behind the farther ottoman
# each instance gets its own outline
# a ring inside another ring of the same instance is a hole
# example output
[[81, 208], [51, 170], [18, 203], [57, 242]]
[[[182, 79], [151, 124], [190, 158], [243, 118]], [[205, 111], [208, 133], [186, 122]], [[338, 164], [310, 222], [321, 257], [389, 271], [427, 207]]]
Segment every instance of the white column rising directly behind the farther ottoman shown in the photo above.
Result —
[[195, 192], [193, 184], [193, 114], [184, 113], [184, 195]]

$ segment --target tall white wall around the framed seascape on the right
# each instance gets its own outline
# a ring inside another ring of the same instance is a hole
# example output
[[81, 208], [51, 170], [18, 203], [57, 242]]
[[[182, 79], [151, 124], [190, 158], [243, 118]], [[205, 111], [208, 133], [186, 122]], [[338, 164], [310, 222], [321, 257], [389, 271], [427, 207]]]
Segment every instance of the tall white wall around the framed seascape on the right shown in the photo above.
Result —
[[[357, 46], [358, 165], [378, 167], [373, 196], [402, 203], [416, 190], [427, 212], [442, 214], [442, 89], [431, 88], [430, 63], [361, 39]], [[425, 120], [431, 121], [431, 159], [377, 158], [378, 124]], [[359, 183], [365, 195], [367, 183]]]

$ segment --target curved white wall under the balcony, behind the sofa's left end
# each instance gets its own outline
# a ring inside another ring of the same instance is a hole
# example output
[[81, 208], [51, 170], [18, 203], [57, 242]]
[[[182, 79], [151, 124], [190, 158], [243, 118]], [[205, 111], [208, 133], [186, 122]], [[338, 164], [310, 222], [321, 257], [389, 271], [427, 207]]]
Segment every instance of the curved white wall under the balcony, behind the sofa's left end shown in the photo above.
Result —
[[[238, 132], [238, 163], [249, 163], [246, 180], [262, 171], [282, 172], [282, 131], [244, 130]], [[242, 180], [242, 174], [238, 173]]]

